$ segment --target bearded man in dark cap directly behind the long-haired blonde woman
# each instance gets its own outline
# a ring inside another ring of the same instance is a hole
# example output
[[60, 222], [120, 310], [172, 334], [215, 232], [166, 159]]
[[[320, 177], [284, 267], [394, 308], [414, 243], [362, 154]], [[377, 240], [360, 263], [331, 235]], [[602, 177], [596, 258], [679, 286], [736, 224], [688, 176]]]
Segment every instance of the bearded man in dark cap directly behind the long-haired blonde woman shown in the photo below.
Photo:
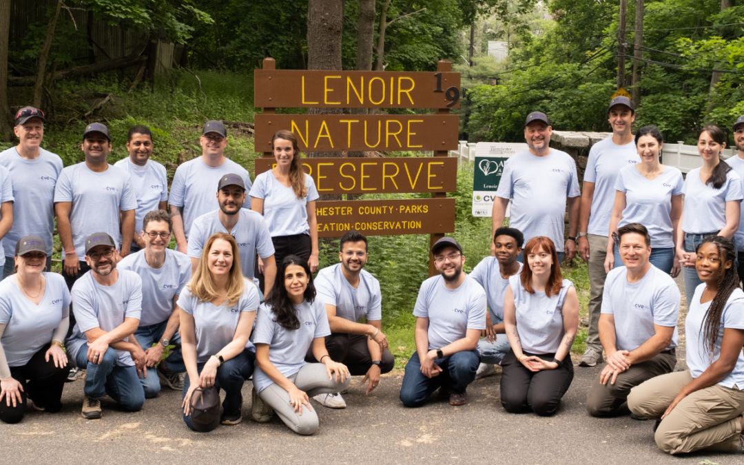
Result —
[[222, 176], [217, 183], [219, 208], [196, 218], [191, 225], [187, 253], [191, 258], [191, 272], [192, 274], [196, 272], [199, 258], [202, 257], [202, 249], [211, 235], [226, 232], [231, 234], [237, 242], [243, 276], [253, 280], [256, 284], [258, 284], [258, 280], [254, 278], [256, 252], [263, 259], [263, 275], [266, 280], [264, 289], [268, 291], [274, 286], [277, 272], [274, 243], [272, 243], [269, 226], [266, 225], [263, 215], [243, 208], [244, 202], [246, 202], [246, 185], [243, 178], [237, 173]]

